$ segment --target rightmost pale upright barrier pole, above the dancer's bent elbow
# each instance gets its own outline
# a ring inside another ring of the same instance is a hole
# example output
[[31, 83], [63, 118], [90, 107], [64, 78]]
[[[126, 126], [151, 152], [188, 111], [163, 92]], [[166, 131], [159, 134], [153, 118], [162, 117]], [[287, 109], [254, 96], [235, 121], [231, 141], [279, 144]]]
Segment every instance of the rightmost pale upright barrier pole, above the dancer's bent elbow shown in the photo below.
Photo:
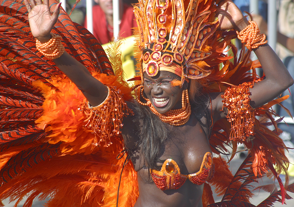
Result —
[[268, 1], [268, 15], [267, 15], [267, 40], [272, 49], [276, 50], [277, 43], [277, 4], [276, 0]]

